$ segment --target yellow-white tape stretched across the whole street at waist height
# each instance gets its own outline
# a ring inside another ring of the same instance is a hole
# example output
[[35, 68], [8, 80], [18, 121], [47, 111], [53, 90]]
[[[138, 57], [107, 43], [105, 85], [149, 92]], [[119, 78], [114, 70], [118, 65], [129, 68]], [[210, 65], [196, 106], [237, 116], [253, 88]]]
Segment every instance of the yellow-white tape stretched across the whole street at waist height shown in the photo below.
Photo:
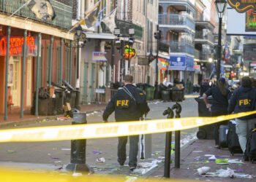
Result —
[[217, 117], [187, 117], [178, 119], [157, 119], [145, 122], [75, 124], [70, 126], [0, 130], [0, 142], [64, 141], [187, 130], [206, 124], [248, 116], [250, 114], [256, 114], [256, 111]]

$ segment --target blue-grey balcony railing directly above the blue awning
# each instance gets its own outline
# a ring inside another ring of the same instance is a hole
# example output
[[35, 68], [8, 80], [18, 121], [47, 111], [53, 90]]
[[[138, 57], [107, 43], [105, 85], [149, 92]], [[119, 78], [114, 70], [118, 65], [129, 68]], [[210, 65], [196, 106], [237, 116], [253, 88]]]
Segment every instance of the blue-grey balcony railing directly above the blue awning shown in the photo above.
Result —
[[193, 44], [186, 41], [162, 41], [164, 44], [170, 45], [170, 52], [183, 52], [189, 55], [194, 55], [195, 47]]

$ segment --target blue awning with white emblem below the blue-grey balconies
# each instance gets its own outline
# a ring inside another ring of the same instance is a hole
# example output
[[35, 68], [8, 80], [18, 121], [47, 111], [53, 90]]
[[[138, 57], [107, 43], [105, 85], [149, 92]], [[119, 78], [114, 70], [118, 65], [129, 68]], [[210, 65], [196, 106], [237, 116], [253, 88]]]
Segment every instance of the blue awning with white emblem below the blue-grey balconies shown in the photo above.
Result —
[[194, 71], [194, 58], [187, 55], [170, 55], [169, 70]]

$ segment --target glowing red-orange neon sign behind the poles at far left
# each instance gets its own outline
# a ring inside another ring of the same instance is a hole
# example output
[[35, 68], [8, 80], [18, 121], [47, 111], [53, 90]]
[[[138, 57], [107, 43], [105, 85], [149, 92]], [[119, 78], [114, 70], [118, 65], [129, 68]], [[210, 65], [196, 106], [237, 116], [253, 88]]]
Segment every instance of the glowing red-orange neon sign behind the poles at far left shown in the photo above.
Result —
[[[9, 55], [23, 55], [23, 36], [10, 36]], [[27, 55], [37, 56], [37, 37], [26, 37]], [[0, 55], [7, 55], [7, 36], [0, 38]]]

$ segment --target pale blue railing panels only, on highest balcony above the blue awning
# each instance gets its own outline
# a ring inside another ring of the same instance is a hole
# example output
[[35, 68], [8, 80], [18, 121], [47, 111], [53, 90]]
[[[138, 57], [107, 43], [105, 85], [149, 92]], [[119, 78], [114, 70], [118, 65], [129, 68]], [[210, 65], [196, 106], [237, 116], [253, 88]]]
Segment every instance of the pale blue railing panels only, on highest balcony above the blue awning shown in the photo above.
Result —
[[159, 14], [159, 25], [187, 25], [192, 30], [195, 30], [195, 21], [188, 15], [180, 14]]

